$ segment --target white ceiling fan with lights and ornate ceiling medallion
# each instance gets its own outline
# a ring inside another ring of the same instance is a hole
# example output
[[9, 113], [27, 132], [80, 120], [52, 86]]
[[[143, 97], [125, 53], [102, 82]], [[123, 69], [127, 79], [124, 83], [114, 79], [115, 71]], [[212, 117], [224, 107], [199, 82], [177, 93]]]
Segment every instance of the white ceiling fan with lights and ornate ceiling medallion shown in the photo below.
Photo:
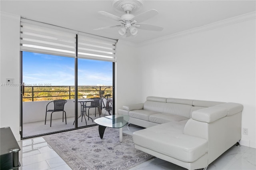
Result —
[[142, 0], [114, 0], [112, 2], [112, 7], [114, 8], [114, 10], [122, 14], [125, 12], [125, 14], [118, 17], [105, 11], [99, 11], [98, 13], [108, 18], [111, 18], [117, 22], [120, 22], [120, 24], [116, 26], [106, 26], [102, 28], [96, 28], [94, 30], [102, 30], [102, 29], [117, 27], [117, 28], [120, 28], [118, 30], [118, 33], [122, 37], [129, 37], [131, 35], [135, 36], [138, 33], [138, 29], [162, 31], [164, 29], [162, 27], [141, 23], [157, 15], [158, 14], [157, 10], [154, 10], [154, 9], [148, 10], [137, 16], [130, 14], [131, 12], [135, 13], [141, 10], [142, 5], [143, 5]]

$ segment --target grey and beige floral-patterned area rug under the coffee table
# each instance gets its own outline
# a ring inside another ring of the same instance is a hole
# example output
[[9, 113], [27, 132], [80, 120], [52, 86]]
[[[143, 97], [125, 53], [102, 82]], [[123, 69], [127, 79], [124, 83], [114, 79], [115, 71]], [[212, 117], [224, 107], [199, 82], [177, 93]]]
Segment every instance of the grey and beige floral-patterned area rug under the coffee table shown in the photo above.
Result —
[[128, 170], [154, 156], [134, 148], [132, 136], [106, 128], [100, 139], [98, 126], [43, 136], [73, 170]]

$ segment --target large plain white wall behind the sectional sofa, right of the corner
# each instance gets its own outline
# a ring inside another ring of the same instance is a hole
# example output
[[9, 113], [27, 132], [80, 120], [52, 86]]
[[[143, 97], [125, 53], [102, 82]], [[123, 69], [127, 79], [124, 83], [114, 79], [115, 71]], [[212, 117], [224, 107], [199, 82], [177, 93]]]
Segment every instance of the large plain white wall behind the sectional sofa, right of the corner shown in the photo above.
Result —
[[244, 105], [241, 144], [256, 148], [255, 19], [139, 47], [142, 100], [147, 96]]

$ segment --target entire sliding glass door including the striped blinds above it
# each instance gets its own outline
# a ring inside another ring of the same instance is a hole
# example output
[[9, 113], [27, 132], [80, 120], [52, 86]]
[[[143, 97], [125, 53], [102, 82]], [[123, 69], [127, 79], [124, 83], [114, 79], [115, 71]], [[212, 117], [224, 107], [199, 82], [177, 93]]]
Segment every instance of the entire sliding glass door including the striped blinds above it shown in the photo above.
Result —
[[21, 18], [22, 138], [114, 113], [116, 42]]

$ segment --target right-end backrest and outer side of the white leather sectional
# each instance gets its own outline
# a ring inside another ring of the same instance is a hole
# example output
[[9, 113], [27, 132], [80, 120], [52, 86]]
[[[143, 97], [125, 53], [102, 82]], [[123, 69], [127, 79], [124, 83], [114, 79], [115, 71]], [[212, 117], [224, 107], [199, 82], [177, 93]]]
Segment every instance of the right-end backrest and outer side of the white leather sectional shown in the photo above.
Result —
[[192, 112], [183, 133], [208, 140], [208, 164], [241, 139], [242, 109], [241, 104], [224, 103]]

